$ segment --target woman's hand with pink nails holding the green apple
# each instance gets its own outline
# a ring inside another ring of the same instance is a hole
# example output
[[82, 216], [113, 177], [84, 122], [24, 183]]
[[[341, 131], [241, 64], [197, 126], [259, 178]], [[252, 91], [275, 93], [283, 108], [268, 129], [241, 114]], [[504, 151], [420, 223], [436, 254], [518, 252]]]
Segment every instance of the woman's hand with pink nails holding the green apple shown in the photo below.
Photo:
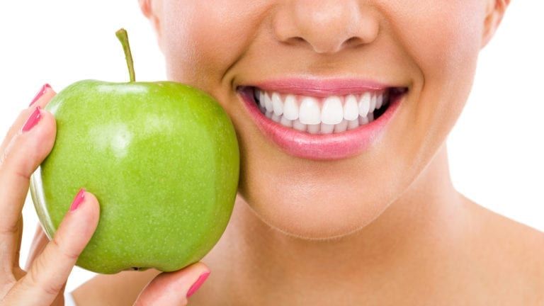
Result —
[[[19, 266], [23, 233], [21, 211], [28, 193], [30, 175], [55, 143], [55, 118], [42, 109], [53, 96], [55, 91], [44, 86], [32, 105], [21, 111], [0, 146], [2, 306], [64, 305], [63, 293], [69, 273], [98, 225], [98, 200], [89, 192], [79, 194], [52, 241], [49, 242], [38, 229], [26, 271]], [[142, 291], [136, 305], [186, 305], [186, 295], [198, 289], [206, 273], [209, 270], [203, 263], [194, 263], [180, 271], [161, 273]]]

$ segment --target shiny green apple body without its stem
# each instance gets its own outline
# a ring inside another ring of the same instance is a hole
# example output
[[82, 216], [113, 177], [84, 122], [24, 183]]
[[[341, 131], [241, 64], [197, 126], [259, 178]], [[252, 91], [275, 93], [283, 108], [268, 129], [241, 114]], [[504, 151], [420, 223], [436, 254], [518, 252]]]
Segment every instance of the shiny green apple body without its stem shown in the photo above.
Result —
[[239, 147], [208, 94], [171, 81], [79, 81], [45, 108], [57, 137], [30, 193], [49, 238], [80, 188], [101, 206], [77, 261], [97, 273], [175, 271], [205, 256], [232, 214]]

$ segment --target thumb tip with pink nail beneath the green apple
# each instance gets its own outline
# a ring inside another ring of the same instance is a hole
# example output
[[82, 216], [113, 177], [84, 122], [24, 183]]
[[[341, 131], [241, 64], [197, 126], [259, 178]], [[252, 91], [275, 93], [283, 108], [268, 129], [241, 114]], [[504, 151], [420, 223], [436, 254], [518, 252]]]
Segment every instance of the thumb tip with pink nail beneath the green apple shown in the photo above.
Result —
[[210, 269], [204, 263], [193, 263], [180, 271], [163, 272], [142, 291], [135, 305], [187, 305], [187, 299], [204, 283]]

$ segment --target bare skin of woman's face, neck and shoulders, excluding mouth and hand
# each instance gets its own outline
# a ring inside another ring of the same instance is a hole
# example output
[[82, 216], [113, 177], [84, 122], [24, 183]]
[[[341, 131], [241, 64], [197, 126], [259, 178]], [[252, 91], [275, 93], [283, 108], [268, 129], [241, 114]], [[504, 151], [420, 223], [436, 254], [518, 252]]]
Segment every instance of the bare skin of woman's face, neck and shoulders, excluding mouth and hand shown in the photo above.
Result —
[[[455, 191], [445, 145], [508, 3], [140, 0], [169, 79], [215, 96], [239, 137], [232, 220], [191, 304], [542, 305], [544, 234]], [[367, 152], [316, 162], [266, 140], [235, 91], [289, 76], [409, 94]], [[130, 305], [157, 274], [97, 276], [74, 297]]]

